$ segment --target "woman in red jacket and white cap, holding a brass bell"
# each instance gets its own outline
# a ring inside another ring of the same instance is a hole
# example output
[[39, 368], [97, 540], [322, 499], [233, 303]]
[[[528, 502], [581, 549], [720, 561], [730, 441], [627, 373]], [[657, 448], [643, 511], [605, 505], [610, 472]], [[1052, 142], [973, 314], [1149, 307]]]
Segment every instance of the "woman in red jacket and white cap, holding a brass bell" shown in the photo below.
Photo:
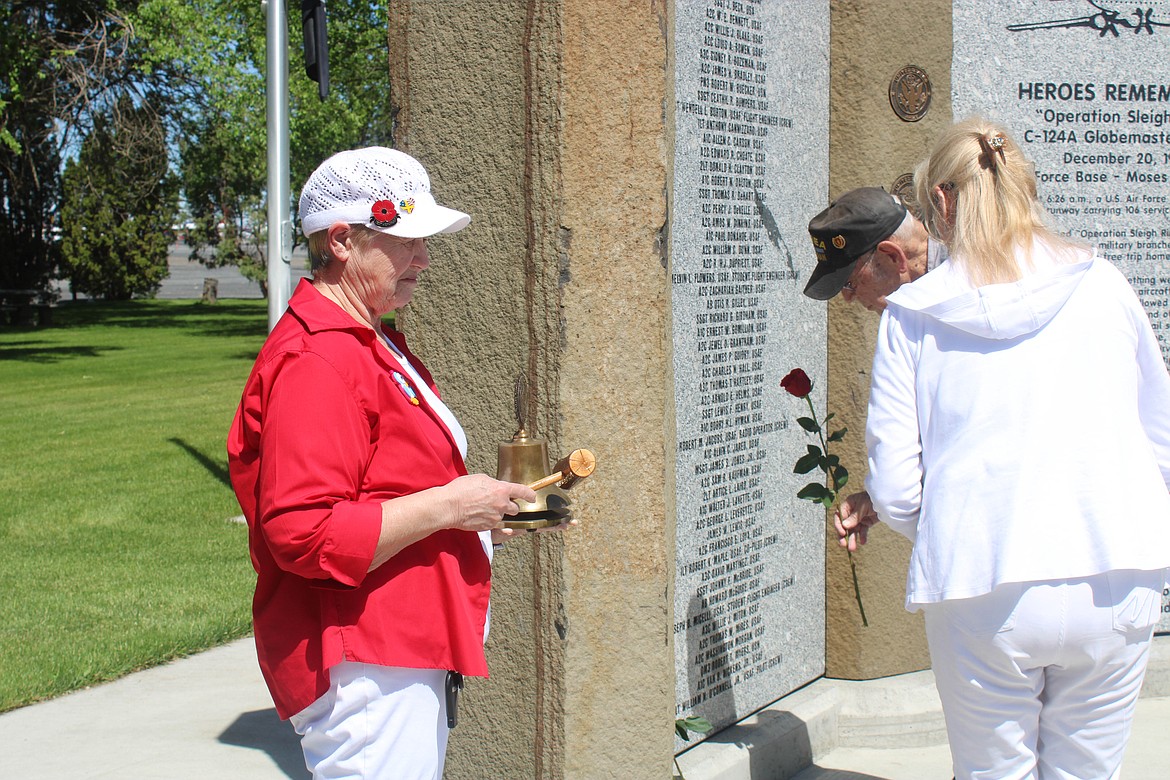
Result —
[[467, 474], [462, 428], [381, 317], [411, 299], [427, 236], [470, 218], [381, 147], [326, 160], [300, 214], [312, 279], [256, 358], [228, 436], [260, 667], [314, 778], [438, 779], [448, 678], [487, 675], [493, 543], [535, 493]]

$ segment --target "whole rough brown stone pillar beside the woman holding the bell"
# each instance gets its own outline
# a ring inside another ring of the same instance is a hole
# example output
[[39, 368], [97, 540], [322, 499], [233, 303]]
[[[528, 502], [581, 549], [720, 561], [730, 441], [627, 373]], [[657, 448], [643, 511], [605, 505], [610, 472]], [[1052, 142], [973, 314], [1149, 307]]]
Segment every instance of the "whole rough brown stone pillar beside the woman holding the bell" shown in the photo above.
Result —
[[663, 778], [673, 753], [661, 2], [395, 2], [395, 144], [468, 229], [399, 317], [494, 474], [528, 377], [531, 428], [587, 447], [580, 527], [494, 566], [490, 681], [448, 778]]

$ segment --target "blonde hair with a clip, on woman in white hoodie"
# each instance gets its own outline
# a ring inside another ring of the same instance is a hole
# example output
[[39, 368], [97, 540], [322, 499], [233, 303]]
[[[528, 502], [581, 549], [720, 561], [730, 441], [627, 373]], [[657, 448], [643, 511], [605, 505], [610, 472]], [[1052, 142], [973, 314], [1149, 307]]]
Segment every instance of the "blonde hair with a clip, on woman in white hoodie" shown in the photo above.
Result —
[[[950, 222], [936, 187], [952, 195]], [[1058, 251], [1078, 246], [1049, 227], [1037, 199], [1035, 168], [994, 122], [975, 117], [944, 131], [915, 168], [914, 189], [927, 232], [947, 243], [972, 284], [1021, 278], [1017, 249], [1031, 263], [1035, 239]]]

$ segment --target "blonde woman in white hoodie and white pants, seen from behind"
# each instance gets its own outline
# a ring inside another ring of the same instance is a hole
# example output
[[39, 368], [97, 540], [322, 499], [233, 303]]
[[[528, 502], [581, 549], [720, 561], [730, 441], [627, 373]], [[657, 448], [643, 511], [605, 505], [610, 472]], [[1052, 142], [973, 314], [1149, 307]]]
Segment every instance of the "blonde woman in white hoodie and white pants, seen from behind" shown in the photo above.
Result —
[[887, 298], [866, 484], [914, 543], [955, 775], [1115, 778], [1170, 566], [1162, 351], [1004, 127], [952, 126], [915, 188], [950, 260]]

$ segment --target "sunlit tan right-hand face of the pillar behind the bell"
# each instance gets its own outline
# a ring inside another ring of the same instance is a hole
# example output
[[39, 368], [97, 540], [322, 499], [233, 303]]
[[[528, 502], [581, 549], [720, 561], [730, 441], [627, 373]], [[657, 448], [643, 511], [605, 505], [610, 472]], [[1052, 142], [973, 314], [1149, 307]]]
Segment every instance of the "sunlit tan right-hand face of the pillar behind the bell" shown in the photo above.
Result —
[[[536, 5], [536, 0], [530, 0]], [[566, 538], [566, 778], [670, 769], [674, 529], [667, 508], [667, 4], [563, 4], [564, 444], [606, 479]], [[601, 455], [604, 453], [604, 456]]]

